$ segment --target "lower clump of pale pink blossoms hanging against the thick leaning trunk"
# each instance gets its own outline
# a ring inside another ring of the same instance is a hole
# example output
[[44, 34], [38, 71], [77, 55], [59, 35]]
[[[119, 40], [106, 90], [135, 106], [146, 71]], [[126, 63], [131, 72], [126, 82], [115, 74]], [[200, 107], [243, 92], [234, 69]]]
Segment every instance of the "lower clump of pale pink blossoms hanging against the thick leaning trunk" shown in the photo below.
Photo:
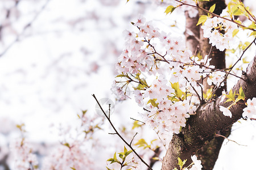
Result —
[[[144, 99], [150, 99], [154, 103], [158, 103], [156, 107], [152, 104], [145, 105], [150, 113], [146, 113], [144, 119], [146, 124], [152, 128], [156, 128], [162, 133], [171, 131], [179, 133], [180, 127], [185, 127], [186, 118], [196, 110], [194, 105], [189, 105], [187, 100], [171, 101], [170, 97], [174, 97], [175, 90], [167, 86], [166, 79], [156, 79], [150, 88], [144, 92]], [[138, 96], [138, 95], [137, 95]], [[137, 97], [136, 100], [139, 97]], [[157, 100], [154, 100], [157, 99]]]

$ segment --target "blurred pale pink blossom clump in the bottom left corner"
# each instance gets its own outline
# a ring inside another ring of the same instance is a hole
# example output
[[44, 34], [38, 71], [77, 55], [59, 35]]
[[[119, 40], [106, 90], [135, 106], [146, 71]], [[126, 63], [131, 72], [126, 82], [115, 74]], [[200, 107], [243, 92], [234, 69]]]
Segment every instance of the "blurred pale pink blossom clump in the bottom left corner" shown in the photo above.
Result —
[[38, 159], [26, 139], [18, 138], [10, 143], [10, 151], [12, 169], [38, 169]]

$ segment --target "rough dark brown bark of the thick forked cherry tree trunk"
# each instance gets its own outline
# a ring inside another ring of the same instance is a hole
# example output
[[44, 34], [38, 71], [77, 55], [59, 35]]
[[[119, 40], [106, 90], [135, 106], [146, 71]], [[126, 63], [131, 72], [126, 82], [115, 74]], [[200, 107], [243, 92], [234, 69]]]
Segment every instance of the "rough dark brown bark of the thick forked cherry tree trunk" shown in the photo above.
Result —
[[[220, 14], [222, 9], [225, 8], [225, 1], [213, 0], [210, 2], [202, 2], [200, 3], [200, 6], [209, 9], [214, 3], [216, 3], [216, 10], [214, 13]], [[205, 14], [200, 12], [200, 15]], [[185, 34], [187, 38], [187, 46], [192, 52], [195, 52], [197, 44], [200, 44], [199, 50], [204, 57], [209, 53], [210, 44], [208, 43], [208, 39], [203, 38], [202, 32], [199, 33], [199, 27], [191, 27], [191, 25], [196, 25], [197, 21], [198, 18], [191, 19], [186, 14], [186, 27], [189, 28], [189, 32], [192, 31], [196, 36], [200, 35], [198, 37], [199, 40], [191, 35]], [[220, 52], [213, 47], [209, 57], [212, 58], [211, 65], [215, 65], [218, 69], [225, 68], [225, 52]], [[247, 74], [244, 76], [247, 82], [240, 80], [233, 88], [233, 91], [238, 91], [240, 86], [242, 86], [243, 90], [246, 91], [247, 98], [256, 96], [253, 95], [256, 81], [255, 64], [256, 58], [254, 57], [254, 60], [247, 68]], [[218, 90], [216, 95], [220, 96], [222, 90], [223, 88]], [[245, 105], [242, 104], [237, 104], [232, 107], [230, 111], [232, 111], [233, 116], [232, 118], [229, 118], [225, 117], [222, 112], [220, 112], [220, 105], [227, 107], [229, 103], [220, 103], [220, 99], [217, 99], [216, 101], [200, 105], [196, 111], [197, 114], [189, 118], [187, 126], [181, 130], [180, 134], [174, 135], [163, 160], [163, 170], [174, 169], [174, 167], [177, 167], [177, 157], [181, 158], [181, 160], [187, 159], [186, 165], [189, 165], [192, 162], [190, 157], [195, 155], [196, 152], [197, 156], [199, 156], [199, 159], [202, 161], [204, 169], [213, 169], [222, 142], [224, 141], [224, 138], [214, 138], [215, 134], [222, 134], [228, 137], [232, 124], [241, 118], [242, 109], [245, 107]]]

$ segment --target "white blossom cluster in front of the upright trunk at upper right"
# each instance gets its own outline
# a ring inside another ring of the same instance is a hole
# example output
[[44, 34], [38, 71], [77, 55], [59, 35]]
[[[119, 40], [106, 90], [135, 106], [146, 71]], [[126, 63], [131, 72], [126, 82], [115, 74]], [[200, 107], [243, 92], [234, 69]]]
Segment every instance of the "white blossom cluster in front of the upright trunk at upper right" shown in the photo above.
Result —
[[[220, 16], [229, 18], [226, 10], [223, 10]], [[234, 29], [237, 29], [237, 24], [214, 16], [213, 18], [208, 18], [201, 28], [204, 31], [203, 36], [209, 38], [209, 43], [223, 51], [229, 48], [230, 42], [234, 41], [232, 33]]]

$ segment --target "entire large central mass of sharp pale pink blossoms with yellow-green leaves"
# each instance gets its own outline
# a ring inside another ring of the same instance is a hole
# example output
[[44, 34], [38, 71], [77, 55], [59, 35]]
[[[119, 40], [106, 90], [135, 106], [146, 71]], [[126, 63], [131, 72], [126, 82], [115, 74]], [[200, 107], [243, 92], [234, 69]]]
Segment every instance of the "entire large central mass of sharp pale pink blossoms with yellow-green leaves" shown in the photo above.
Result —
[[[119, 100], [124, 100], [129, 83], [138, 83], [133, 85], [133, 94], [147, 111], [143, 114], [146, 124], [161, 132], [179, 133], [202, 97], [199, 94], [203, 84], [198, 81], [207, 78], [209, 85], [223, 86], [225, 73], [214, 71], [208, 56], [201, 60], [192, 56], [181, 37], [160, 32], [142, 16], [134, 25], [138, 33], [124, 32], [125, 49], [116, 65], [120, 80], [114, 81], [112, 90]], [[146, 82], [141, 73], [154, 80]]]

